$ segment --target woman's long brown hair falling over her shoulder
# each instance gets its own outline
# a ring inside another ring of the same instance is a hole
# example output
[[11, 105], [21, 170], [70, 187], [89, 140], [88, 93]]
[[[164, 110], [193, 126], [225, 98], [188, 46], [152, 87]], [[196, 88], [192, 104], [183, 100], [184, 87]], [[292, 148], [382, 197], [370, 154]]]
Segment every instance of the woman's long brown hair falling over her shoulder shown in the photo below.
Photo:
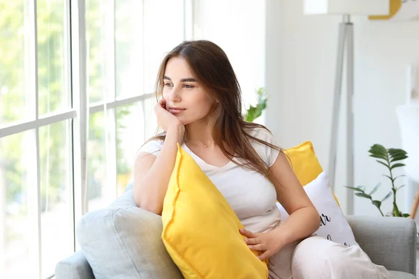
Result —
[[[214, 143], [235, 164], [259, 172], [272, 181], [268, 166], [251, 146], [251, 140], [280, 152], [281, 149], [251, 135], [254, 128], [265, 129], [268, 133], [270, 130], [263, 125], [244, 121], [242, 91], [233, 67], [221, 47], [208, 40], [188, 40], [177, 45], [161, 62], [156, 79], [156, 98], [159, 100], [163, 94], [163, 76], [168, 61], [179, 56], [186, 59], [198, 81], [208, 89], [207, 93], [219, 102], [212, 117]], [[164, 140], [165, 135], [157, 135], [150, 140], [156, 139]]]

